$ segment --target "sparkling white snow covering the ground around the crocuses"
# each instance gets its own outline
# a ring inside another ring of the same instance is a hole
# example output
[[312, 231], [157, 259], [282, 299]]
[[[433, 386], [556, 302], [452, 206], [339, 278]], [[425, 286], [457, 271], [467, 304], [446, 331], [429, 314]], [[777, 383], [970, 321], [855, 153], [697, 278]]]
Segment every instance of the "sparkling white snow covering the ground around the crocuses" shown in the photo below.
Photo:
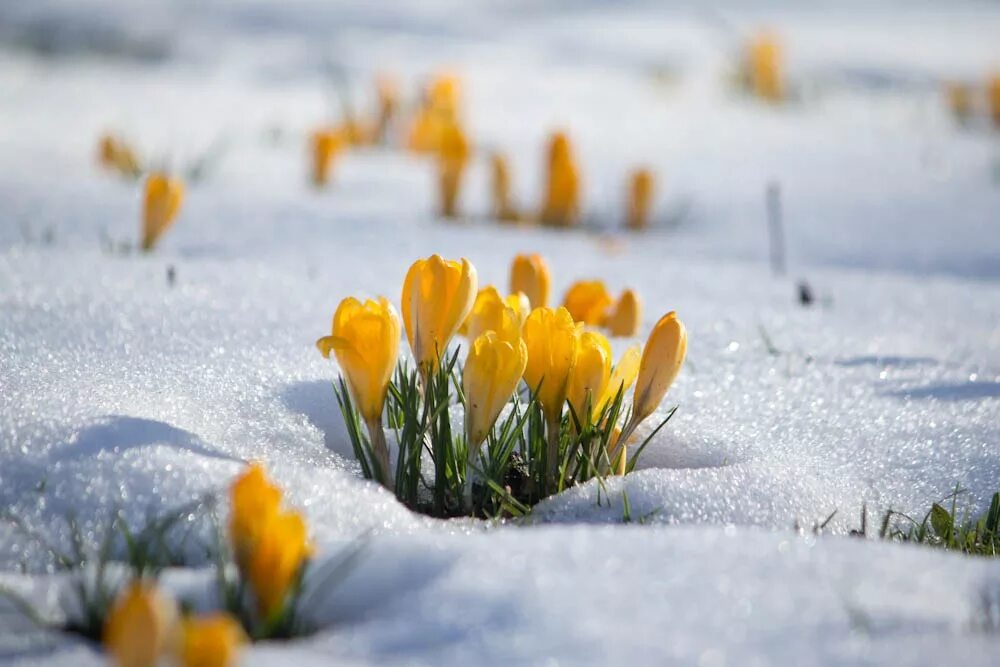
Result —
[[[798, 91], [778, 109], [725, 83], [762, 25]], [[320, 633], [250, 664], [995, 664], [1000, 565], [840, 535], [862, 506], [922, 516], [959, 484], [979, 512], [1000, 489], [1000, 134], [957, 127], [940, 93], [1000, 67], [997, 34], [1000, 10], [973, 2], [0, 5], [0, 508], [61, 544], [75, 514], [96, 541], [115, 509], [138, 520], [264, 461], [321, 554], [370, 546]], [[408, 90], [459, 73], [523, 203], [568, 128], [590, 231], [486, 220], [483, 153], [461, 223], [398, 152], [352, 152], [314, 191], [304, 137], [339, 108], [330, 63], [359, 108], [376, 72]], [[94, 165], [109, 128], [175, 167], [226, 147], [148, 257], [101, 250], [134, 240], [139, 206]], [[662, 187], [658, 224], [629, 236], [636, 164]], [[766, 263], [771, 181], [786, 278]], [[678, 412], [601, 503], [588, 484], [529, 526], [415, 515], [360, 478], [313, 342], [344, 296], [398, 301], [417, 257], [467, 256], [502, 287], [524, 251], [557, 297], [579, 278], [637, 289], [643, 334], [678, 311]], [[623, 491], [646, 525], [620, 525]], [[833, 535], [793, 531], [834, 510]], [[0, 583], [57, 613], [51, 566], [0, 526]], [[101, 662], [6, 611], [0, 662]]]

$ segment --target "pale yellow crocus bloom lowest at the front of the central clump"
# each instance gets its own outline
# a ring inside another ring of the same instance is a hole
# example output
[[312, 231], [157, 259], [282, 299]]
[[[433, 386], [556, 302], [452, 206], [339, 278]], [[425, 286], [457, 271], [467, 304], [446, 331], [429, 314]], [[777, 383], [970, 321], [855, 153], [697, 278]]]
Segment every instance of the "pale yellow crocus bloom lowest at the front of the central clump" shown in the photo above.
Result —
[[505, 319], [500, 329], [485, 331], [473, 340], [462, 373], [470, 458], [517, 389], [527, 363], [528, 348], [516, 321]]

